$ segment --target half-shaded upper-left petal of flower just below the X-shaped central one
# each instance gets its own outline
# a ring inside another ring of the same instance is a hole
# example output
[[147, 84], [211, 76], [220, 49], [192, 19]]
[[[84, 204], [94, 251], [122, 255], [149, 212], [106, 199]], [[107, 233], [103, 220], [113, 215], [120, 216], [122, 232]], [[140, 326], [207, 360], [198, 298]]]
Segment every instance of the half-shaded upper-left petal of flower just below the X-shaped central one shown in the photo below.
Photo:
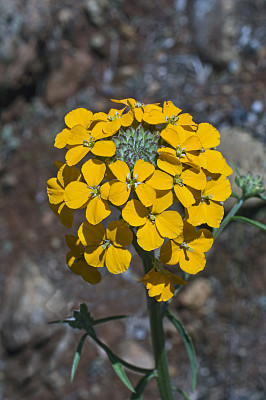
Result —
[[147, 221], [149, 210], [139, 200], [130, 200], [122, 210], [122, 217], [131, 226], [141, 226]]

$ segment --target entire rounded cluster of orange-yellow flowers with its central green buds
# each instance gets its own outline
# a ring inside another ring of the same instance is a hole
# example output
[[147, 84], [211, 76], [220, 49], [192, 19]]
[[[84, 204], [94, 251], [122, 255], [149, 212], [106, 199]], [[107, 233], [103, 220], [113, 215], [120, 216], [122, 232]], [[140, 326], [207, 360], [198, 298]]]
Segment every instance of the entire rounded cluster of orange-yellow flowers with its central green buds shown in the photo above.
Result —
[[[216, 150], [219, 132], [171, 101], [163, 107], [113, 101], [123, 108], [108, 114], [78, 108], [66, 115], [67, 127], [55, 139], [55, 147], [66, 148], [66, 161], [56, 162], [57, 177], [47, 182], [49, 201], [67, 228], [74, 210], [86, 210], [78, 237], [66, 235], [67, 264], [75, 274], [95, 284], [98, 268], [126, 271], [135, 235], [144, 251], [159, 249], [141, 281], [150, 296], [167, 301], [174, 285], [186, 282], [163, 265], [179, 263], [189, 274], [204, 268], [213, 238], [199, 226], [219, 227], [232, 170]], [[107, 225], [117, 209], [121, 218]]]

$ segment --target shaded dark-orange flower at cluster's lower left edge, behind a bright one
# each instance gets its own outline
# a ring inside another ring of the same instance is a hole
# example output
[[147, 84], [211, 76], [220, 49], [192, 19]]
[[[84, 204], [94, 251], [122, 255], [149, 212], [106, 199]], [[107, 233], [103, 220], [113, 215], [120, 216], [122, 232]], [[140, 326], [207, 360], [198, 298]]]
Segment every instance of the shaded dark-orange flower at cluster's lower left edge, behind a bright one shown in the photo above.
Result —
[[66, 235], [66, 243], [70, 249], [67, 253], [67, 265], [76, 275], [81, 275], [82, 278], [93, 285], [101, 281], [101, 274], [97, 268], [88, 265], [84, 260], [84, 246], [81, 241], [73, 236]]

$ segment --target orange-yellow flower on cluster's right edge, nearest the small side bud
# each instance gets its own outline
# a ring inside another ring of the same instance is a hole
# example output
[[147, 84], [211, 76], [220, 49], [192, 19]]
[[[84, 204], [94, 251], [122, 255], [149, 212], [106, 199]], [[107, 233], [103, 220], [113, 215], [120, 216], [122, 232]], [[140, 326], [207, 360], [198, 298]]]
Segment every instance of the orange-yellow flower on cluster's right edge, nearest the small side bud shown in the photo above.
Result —
[[201, 192], [195, 192], [196, 202], [186, 209], [187, 219], [191, 225], [208, 224], [218, 228], [224, 216], [223, 203], [231, 194], [228, 179], [221, 176], [210, 180]]

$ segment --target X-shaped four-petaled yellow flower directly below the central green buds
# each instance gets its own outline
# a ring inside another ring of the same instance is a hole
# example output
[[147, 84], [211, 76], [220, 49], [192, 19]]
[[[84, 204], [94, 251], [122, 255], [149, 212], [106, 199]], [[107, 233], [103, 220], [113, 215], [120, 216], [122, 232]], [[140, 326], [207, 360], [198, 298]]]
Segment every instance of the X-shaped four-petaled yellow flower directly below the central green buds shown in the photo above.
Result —
[[108, 199], [111, 203], [121, 206], [128, 200], [132, 189], [144, 205], [150, 206], [154, 203], [156, 192], [144, 182], [154, 172], [153, 164], [137, 160], [132, 174], [128, 165], [121, 160], [109, 164], [109, 168], [117, 178], [117, 181], [111, 184], [109, 192]]

